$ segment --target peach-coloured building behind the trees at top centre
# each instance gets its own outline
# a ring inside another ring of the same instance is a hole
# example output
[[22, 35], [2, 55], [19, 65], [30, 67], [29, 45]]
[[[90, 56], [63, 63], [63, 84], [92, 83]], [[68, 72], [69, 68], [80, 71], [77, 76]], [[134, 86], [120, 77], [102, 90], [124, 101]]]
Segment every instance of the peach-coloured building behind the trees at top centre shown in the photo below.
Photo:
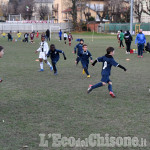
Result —
[[[87, 13], [98, 19], [96, 11], [103, 13], [104, 0], [89, 0], [89, 2], [78, 2], [77, 7], [77, 21], [86, 20]], [[71, 1], [69, 0], [54, 0], [53, 4], [53, 18], [55, 23], [69, 22], [72, 20], [71, 16]], [[98, 20], [97, 20], [98, 21]]]

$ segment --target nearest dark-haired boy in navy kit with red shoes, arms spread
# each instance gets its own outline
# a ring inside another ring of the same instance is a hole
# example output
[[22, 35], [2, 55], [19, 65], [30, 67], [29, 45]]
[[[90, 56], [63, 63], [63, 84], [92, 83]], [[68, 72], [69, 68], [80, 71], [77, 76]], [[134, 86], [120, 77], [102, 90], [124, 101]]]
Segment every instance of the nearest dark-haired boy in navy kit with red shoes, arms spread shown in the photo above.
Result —
[[121, 66], [120, 64], [118, 64], [114, 58], [114, 48], [113, 47], [108, 47], [106, 49], [107, 54], [105, 56], [99, 57], [97, 58], [97, 60], [95, 60], [92, 65], [94, 66], [97, 62], [102, 62], [103, 66], [102, 66], [102, 78], [101, 78], [101, 82], [97, 83], [95, 85], [90, 85], [87, 93], [90, 93], [93, 89], [104, 86], [108, 83], [108, 90], [109, 90], [109, 94], [111, 97], [115, 98], [115, 94], [112, 91], [112, 82], [109, 79], [110, 76], [110, 72], [111, 72], [111, 67], [115, 66], [115, 67], [119, 67], [121, 69], [123, 69], [124, 71], [126, 71], [126, 68], [124, 68], [123, 66]]

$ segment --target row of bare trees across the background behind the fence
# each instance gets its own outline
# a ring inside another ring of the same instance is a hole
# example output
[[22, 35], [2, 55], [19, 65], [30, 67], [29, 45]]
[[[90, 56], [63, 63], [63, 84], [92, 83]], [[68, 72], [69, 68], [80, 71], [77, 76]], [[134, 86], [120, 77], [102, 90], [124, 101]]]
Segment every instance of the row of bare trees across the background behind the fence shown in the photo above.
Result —
[[[91, 0], [63, 0], [66, 6], [71, 8], [70, 15], [72, 21], [77, 24], [77, 12], [81, 11], [85, 16], [86, 21], [93, 19], [89, 12], [84, 10], [87, 8], [87, 4], [90, 4]], [[101, 3], [101, 0], [97, 2]], [[130, 0], [104, 0], [105, 5], [103, 11], [95, 8], [96, 14], [100, 20], [108, 19], [110, 22], [129, 22], [130, 21]], [[127, 4], [127, 5], [126, 5]], [[144, 5], [146, 7], [144, 7]], [[78, 10], [78, 8], [80, 8]], [[24, 19], [31, 19], [33, 12], [37, 12], [41, 20], [44, 20], [49, 15], [50, 9], [47, 5], [41, 5], [39, 8], [35, 7], [35, 0], [10, 0], [7, 5], [1, 6], [0, 14], [6, 19], [9, 14], [21, 14]], [[134, 0], [134, 13], [141, 22], [142, 13], [150, 15], [150, 1], [149, 0]], [[82, 19], [81, 19], [82, 20]]]

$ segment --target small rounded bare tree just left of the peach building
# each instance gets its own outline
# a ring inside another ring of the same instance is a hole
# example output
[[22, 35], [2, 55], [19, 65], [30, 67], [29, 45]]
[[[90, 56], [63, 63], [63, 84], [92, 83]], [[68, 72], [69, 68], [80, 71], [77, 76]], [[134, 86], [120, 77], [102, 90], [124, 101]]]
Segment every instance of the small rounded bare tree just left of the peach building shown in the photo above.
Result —
[[47, 5], [40, 5], [39, 9], [40, 19], [44, 20], [49, 14], [49, 7]]

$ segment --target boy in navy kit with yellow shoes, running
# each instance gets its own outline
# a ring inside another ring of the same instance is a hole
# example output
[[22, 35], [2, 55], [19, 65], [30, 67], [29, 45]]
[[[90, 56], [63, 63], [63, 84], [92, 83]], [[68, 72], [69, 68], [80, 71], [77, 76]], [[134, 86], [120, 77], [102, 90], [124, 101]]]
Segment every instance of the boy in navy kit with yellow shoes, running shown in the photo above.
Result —
[[83, 66], [82, 74], [86, 73], [87, 78], [90, 78], [91, 76], [88, 72], [89, 58], [91, 59], [91, 63], [93, 62], [93, 60], [92, 60], [91, 53], [87, 50], [87, 45], [86, 44], [83, 45], [83, 51], [80, 52], [79, 57], [81, 59], [81, 63], [82, 63], [82, 66]]

